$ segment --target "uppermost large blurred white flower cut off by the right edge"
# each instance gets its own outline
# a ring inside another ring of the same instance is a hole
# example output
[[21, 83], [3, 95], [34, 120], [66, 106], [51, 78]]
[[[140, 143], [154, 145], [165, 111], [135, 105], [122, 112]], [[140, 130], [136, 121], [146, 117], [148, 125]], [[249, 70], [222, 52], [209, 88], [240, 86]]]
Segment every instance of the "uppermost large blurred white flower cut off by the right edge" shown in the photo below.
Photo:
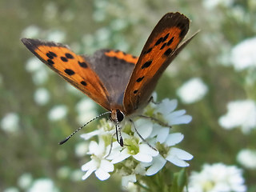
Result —
[[230, 60], [235, 70], [245, 70], [256, 67], [256, 38], [248, 38], [231, 50]]

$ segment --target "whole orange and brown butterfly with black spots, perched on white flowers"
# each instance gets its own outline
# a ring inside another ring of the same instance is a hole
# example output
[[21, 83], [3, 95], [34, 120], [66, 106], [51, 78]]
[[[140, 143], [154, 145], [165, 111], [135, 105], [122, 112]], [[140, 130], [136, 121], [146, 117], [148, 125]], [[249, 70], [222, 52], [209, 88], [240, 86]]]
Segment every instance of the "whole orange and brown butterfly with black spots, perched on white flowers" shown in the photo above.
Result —
[[[125, 117], [139, 114], [150, 102], [166, 67], [194, 38], [195, 34], [182, 42], [189, 25], [190, 20], [183, 14], [165, 14], [139, 57], [107, 49], [98, 50], [92, 56], [78, 55], [61, 43], [32, 38], [22, 38], [22, 42], [46, 66], [108, 110], [110, 119], [118, 124]], [[121, 134], [119, 143], [123, 146]]]

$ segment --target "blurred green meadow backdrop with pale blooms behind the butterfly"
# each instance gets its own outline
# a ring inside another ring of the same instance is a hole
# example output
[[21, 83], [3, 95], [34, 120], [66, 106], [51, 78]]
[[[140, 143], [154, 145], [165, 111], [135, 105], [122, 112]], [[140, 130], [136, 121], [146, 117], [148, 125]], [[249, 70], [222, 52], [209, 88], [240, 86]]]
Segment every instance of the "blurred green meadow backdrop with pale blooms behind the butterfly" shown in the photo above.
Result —
[[[193, 117], [180, 129], [185, 135], [180, 147], [194, 155], [188, 173], [206, 162], [242, 167], [237, 154], [242, 149], [255, 150], [256, 131], [223, 129], [219, 118], [230, 101], [256, 100], [255, 67], [236, 70], [230, 62], [232, 48], [255, 36], [254, 0], [2, 0], [0, 191], [37, 191], [31, 188], [40, 179], [52, 185], [52, 190], [44, 191], [122, 190], [120, 178], [100, 182], [92, 174], [81, 181], [80, 167], [90, 157], [85, 156], [86, 142], [79, 134], [58, 145], [104, 110], [38, 62], [20, 38], [62, 42], [77, 54], [113, 48], [138, 56], [162, 15], [176, 11], [191, 20], [188, 36], [201, 32], [169, 66], [156, 91], [158, 101], [178, 98], [178, 109], [186, 109]], [[198, 101], [182, 102], [177, 90], [191, 78], [200, 78], [207, 93]], [[255, 170], [242, 168], [246, 186], [255, 191]]]

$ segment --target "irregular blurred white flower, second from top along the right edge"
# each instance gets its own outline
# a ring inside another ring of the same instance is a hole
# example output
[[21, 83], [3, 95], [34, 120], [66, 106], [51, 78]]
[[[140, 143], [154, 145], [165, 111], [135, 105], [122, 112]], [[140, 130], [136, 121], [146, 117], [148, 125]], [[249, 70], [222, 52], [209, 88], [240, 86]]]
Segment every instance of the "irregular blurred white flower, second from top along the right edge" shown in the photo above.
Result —
[[256, 127], [256, 103], [253, 100], [229, 102], [227, 113], [218, 119], [218, 123], [225, 129], [241, 126], [242, 132], [247, 134]]

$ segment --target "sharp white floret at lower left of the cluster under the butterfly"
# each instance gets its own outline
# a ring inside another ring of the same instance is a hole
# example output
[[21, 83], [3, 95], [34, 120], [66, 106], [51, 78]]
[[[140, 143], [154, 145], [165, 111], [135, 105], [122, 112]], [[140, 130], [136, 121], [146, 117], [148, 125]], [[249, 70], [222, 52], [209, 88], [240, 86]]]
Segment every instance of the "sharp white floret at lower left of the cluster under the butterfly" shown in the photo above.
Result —
[[90, 142], [88, 154], [91, 154], [92, 159], [82, 166], [82, 171], [86, 171], [82, 179], [85, 180], [93, 172], [102, 181], [110, 178], [109, 172], [114, 170], [114, 165], [112, 162], [104, 159], [104, 156], [106, 156], [106, 147], [102, 138], [99, 138], [98, 143], [94, 141]]

